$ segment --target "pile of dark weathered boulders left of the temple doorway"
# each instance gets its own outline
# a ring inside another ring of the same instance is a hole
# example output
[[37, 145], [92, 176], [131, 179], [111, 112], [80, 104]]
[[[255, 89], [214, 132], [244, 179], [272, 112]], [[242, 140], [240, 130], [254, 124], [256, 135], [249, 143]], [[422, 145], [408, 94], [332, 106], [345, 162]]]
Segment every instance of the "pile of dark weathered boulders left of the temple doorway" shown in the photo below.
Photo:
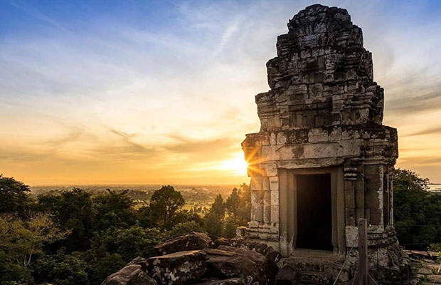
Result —
[[192, 232], [155, 247], [157, 257], [137, 257], [102, 285], [274, 284], [280, 254], [248, 239], [216, 239]]

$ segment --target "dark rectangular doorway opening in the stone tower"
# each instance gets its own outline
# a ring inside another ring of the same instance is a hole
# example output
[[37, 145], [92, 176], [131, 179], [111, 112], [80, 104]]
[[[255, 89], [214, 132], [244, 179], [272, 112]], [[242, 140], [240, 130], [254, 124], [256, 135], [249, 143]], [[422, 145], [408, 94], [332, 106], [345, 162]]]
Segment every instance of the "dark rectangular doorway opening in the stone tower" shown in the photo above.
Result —
[[333, 250], [331, 175], [296, 175], [297, 248]]

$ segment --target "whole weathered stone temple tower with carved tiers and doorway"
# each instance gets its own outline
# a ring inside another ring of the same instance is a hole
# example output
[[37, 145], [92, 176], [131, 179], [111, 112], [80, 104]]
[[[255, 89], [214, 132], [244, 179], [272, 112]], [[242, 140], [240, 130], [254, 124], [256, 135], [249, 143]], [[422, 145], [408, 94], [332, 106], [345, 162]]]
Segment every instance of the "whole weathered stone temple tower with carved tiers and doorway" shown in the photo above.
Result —
[[397, 130], [382, 125], [383, 88], [372, 54], [345, 9], [299, 11], [267, 62], [270, 90], [255, 96], [261, 128], [246, 135], [252, 213], [245, 234], [288, 257], [321, 249], [340, 257], [368, 220], [371, 266], [400, 266], [390, 172]]

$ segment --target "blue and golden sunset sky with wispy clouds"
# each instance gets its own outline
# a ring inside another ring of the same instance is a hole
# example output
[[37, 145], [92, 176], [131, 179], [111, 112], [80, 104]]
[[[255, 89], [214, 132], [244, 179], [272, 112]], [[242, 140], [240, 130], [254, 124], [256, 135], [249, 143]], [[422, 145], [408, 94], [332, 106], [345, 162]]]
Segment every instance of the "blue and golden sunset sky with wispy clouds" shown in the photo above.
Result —
[[[28, 185], [238, 184], [277, 35], [315, 1], [0, 0], [0, 173]], [[441, 183], [441, 1], [347, 9], [398, 128]]]

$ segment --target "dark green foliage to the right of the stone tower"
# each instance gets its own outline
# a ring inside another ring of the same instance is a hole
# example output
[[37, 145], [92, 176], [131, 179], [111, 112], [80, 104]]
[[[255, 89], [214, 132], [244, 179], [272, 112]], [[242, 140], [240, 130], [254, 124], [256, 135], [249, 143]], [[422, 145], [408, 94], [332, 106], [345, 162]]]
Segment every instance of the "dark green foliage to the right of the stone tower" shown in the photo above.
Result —
[[394, 226], [410, 249], [441, 242], [441, 195], [429, 192], [428, 182], [410, 170], [393, 172]]

